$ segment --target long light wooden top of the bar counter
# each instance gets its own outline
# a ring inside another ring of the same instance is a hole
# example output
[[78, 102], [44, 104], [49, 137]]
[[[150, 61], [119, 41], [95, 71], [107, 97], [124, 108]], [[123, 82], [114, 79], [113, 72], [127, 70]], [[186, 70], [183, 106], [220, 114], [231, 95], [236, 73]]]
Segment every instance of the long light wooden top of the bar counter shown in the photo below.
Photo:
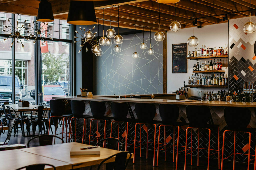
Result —
[[53, 97], [53, 99], [67, 100], [89, 100], [89, 101], [115, 101], [115, 102], [130, 102], [130, 103], [157, 103], [157, 104], [180, 104], [180, 105], [202, 105], [202, 106], [232, 106], [232, 107], [256, 107], [256, 102], [226, 102], [226, 101], [193, 101], [193, 102], [178, 102], [170, 99], [135, 99], [135, 98], [115, 98], [115, 97], [77, 97], [64, 96]]

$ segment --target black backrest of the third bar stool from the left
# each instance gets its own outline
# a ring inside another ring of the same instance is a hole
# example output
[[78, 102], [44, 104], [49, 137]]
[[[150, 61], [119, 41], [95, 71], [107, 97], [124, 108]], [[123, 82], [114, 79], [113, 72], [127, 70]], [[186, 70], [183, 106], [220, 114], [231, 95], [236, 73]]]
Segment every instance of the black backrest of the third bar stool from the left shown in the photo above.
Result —
[[91, 101], [91, 112], [94, 119], [101, 119], [106, 112], [106, 104], [103, 101]]

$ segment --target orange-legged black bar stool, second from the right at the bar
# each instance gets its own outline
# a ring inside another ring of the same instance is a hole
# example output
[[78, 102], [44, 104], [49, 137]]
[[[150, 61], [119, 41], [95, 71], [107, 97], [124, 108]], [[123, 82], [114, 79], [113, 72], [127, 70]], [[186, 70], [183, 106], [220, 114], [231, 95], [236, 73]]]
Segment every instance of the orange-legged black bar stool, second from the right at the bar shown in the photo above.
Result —
[[[186, 169], [186, 162], [187, 162], [187, 154], [191, 154], [191, 165], [192, 165], [192, 153], [193, 147], [192, 147], [192, 129], [197, 128], [197, 166], [199, 166], [199, 149], [207, 149], [208, 150], [208, 165], [207, 169], [209, 170], [210, 167], [210, 150], [217, 151], [212, 154], [218, 153], [218, 159], [219, 159], [219, 168], [220, 168], [220, 128], [219, 125], [214, 125], [210, 108], [208, 106], [193, 106], [188, 105], [186, 107], [186, 113], [187, 118], [189, 121], [189, 127], [186, 130], [186, 148], [185, 148], [185, 166], [184, 169]], [[209, 122], [209, 124], [207, 124]], [[188, 140], [188, 129], [191, 130], [191, 147], [189, 147], [189, 150], [191, 150], [190, 153], [187, 153], [187, 140]], [[209, 130], [209, 145], [208, 148], [199, 148], [199, 129], [207, 129]], [[211, 141], [211, 130], [218, 129], [218, 150], [216, 149], [210, 149], [210, 141]], [[211, 155], [212, 155], [211, 154]]]

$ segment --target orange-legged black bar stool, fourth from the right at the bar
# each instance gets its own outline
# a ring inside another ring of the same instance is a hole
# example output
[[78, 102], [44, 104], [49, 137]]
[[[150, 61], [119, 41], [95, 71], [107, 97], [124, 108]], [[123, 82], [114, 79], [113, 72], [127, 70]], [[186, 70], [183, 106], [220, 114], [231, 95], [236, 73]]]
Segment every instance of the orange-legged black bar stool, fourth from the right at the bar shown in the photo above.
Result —
[[[135, 125], [135, 135], [134, 135], [134, 158], [133, 163], [135, 163], [135, 149], [140, 147], [140, 154], [141, 154], [141, 146], [147, 144], [147, 158], [148, 158], [148, 143], [154, 143], [154, 161], [153, 166], [155, 166], [155, 150], [156, 150], [156, 124], [161, 123], [161, 121], [153, 121], [155, 115], [156, 115], [156, 106], [153, 103], [136, 103], [135, 104], [135, 110], [136, 115], [138, 117], [138, 123]], [[147, 141], [146, 143], [141, 144], [141, 125], [146, 125], [146, 128], [148, 127], [148, 124], [155, 126], [154, 131], [154, 142], [148, 142], [148, 128], [147, 128]], [[140, 146], [136, 147], [136, 133], [137, 133], [137, 125], [140, 125]], [[141, 156], [141, 155], [140, 155]]]

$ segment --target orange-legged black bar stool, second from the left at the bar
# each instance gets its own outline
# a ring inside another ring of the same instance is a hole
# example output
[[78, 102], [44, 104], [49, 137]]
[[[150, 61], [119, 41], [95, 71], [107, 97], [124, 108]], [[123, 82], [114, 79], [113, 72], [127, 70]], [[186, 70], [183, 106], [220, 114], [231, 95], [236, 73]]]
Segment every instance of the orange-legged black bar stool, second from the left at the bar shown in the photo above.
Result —
[[[73, 117], [71, 118], [71, 123], [69, 126], [69, 142], [71, 139], [71, 135], [75, 135], [75, 142], [77, 141], [77, 138], [80, 136], [76, 136], [77, 135], [77, 119], [84, 119], [83, 121], [83, 139], [82, 139], [82, 143], [84, 141], [84, 143], [86, 142], [86, 119], [90, 119], [92, 118], [92, 116], [88, 116], [88, 115], [84, 115], [84, 111], [85, 111], [85, 103], [82, 100], [71, 100], [70, 102], [71, 104], [71, 109], [72, 109], [72, 113], [73, 113]], [[72, 130], [72, 124], [73, 124], [73, 119], [75, 119], [75, 133], [73, 133]], [[72, 133], [71, 133], [72, 130]]]

